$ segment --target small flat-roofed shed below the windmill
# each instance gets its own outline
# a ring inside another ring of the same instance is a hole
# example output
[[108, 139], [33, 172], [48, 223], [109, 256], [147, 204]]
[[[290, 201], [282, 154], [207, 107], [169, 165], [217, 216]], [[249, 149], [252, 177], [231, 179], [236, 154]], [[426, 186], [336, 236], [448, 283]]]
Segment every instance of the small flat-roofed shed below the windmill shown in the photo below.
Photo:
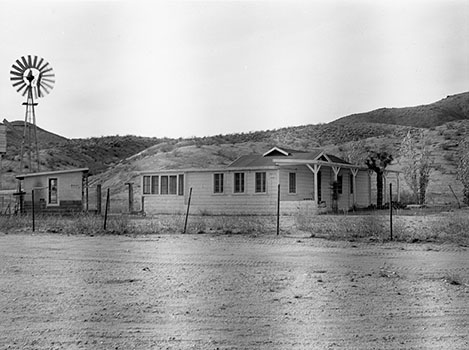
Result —
[[[17, 175], [17, 195], [23, 212], [69, 214], [86, 209], [88, 168]], [[34, 194], [33, 194], [34, 192]]]

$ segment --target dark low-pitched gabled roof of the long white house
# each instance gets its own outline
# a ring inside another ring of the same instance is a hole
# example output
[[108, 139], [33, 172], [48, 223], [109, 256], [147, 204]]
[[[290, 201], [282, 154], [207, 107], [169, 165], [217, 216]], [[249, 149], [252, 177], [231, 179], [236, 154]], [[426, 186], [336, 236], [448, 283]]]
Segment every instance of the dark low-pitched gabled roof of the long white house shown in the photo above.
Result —
[[241, 156], [233, 161], [228, 168], [251, 168], [262, 166], [274, 166], [276, 159], [291, 159], [291, 160], [324, 160], [326, 162], [349, 164], [345, 160], [336, 156], [325, 154], [321, 149], [315, 149], [310, 152], [291, 150], [286, 148], [274, 147], [264, 154], [250, 154]]

